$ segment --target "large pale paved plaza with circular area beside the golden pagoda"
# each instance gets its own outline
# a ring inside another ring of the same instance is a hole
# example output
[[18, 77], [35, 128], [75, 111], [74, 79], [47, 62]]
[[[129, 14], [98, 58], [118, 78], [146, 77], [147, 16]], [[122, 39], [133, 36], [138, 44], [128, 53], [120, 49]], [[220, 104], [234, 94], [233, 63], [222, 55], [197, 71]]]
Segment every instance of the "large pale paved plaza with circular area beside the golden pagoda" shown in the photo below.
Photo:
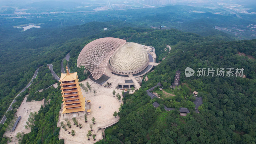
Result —
[[[102, 132], [104, 130], [101, 130], [101, 129], [111, 126], [117, 123], [119, 120], [119, 116], [115, 118], [113, 114], [114, 114], [114, 111], [118, 112], [118, 108], [120, 108], [120, 105], [122, 104], [122, 99], [121, 101], [117, 100], [116, 96], [113, 97], [112, 92], [113, 90], [115, 90], [116, 94], [117, 92], [119, 92], [119, 94], [122, 96], [122, 91], [101, 86], [100, 84], [93, 82], [90, 78], [80, 83], [83, 83], [86, 86], [86, 82], [89, 82], [89, 84], [92, 87], [92, 92], [89, 91], [88, 93], [86, 93], [83, 89], [81, 89], [83, 97], [85, 97], [85, 101], [91, 100], [91, 114], [87, 115], [88, 117], [87, 123], [84, 122], [83, 115], [85, 113], [76, 114], [76, 115], [60, 114], [59, 123], [61, 121], [65, 122], [64, 119], [68, 118], [72, 124], [72, 127], [67, 128], [68, 129], [67, 131], [65, 131], [63, 128], [60, 128], [59, 138], [64, 139], [66, 144], [95, 143], [96, 141], [103, 139]], [[94, 89], [96, 90], [95, 96], [93, 93]], [[86, 107], [88, 107], [88, 105]], [[76, 125], [73, 125], [73, 121], [72, 121], [73, 116], [76, 116], [78, 123], [83, 125], [81, 129], [79, 129], [79, 127], [76, 127]], [[96, 122], [95, 124], [93, 124], [93, 128], [92, 128], [93, 129], [92, 134], [96, 134], [96, 141], [93, 141], [92, 136], [90, 136], [90, 140], [87, 140], [86, 138], [86, 134], [88, 133], [89, 130], [91, 130], [89, 125], [92, 124], [92, 117], [96, 119]], [[72, 136], [71, 133], [68, 134], [68, 132], [71, 132], [71, 130], [74, 130], [76, 132], [75, 136]]]

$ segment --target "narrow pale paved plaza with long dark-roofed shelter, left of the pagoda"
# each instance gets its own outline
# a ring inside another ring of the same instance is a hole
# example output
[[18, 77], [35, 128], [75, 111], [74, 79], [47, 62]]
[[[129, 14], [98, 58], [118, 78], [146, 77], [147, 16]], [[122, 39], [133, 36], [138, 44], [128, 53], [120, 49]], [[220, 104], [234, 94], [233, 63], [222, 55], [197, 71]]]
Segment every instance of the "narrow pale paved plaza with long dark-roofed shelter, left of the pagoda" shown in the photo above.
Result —
[[4, 133], [4, 136], [11, 138], [12, 142], [9, 143], [18, 143], [18, 139], [16, 135], [18, 132], [24, 132], [24, 134], [31, 132], [31, 129], [25, 129], [26, 122], [28, 121], [28, 116], [30, 112], [38, 112], [42, 105], [41, 101], [33, 101], [33, 102], [26, 102], [27, 97], [22, 101], [20, 107], [17, 109], [16, 115], [17, 117], [21, 116], [19, 123], [17, 124], [15, 130], [13, 132], [7, 131]]

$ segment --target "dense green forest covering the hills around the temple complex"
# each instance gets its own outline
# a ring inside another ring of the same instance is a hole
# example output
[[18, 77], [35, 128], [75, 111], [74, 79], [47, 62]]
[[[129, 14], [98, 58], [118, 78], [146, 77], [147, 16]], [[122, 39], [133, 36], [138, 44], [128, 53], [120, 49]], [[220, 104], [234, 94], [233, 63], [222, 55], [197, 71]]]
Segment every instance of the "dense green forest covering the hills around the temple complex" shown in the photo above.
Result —
[[[103, 31], [107, 24], [92, 22], [74, 26], [73, 29], [53, 30], [50, 33], [43, 29], [38, 30], [40, 34], [31, 29], [30, 33], [22, 32], [20, 36], [6, 39], [4, 43], [1, 41], [1, 45], [5, 45], [1, 49], [0, 61], [1, 81], [5, 82], [1, 83], [0, 90], [1, 115], [40, 66], [38, 78], [33, 82], [30, 91], [27, 90], [22, 96], [28, 93], [30, 100], [51, 99], [50, 104], [41, 108], [36, 115], [35, 127], [31, 133], [24, 135], [22, 143], [63, 142], [58, 139], [59, 128], [56, 126], [61, 103], [59, 88], [36, 91], [56, 82], [46, 64], [52, 63], [54, 71], [60, 73], [60, 62], [69, 52], [71, 72], [79, 71], [76, 67], [78, 54], [85, 44], [101, 37], [117, 37], [128, 42], [153, 46], [156, 48], [157, 61], [161, 62], [148, 74], [149, 80], [143, 82], [139, 90], [123, 99], [124, 105], [118, 113], [120, 121], [109, 128], [107, 143], [120, 143], [120, 140], [124, 143], [255, 143], [256, 40], [227, 42], [223, 41], [229, 39], [225, 36], [204, 37], [175, 29], [132, 28], [125, 27], [126, 23], [123, 22], [113, 22], [113, 29]], [[64, 35], [64, 32], [65, 36], [59, 39], [58, 35]], [[172, 47], [170, 53], [164, 51], [166, 44]], [[239, 56], [238, 52], [251, 55], [254, 59]], [[244, 68], [246, 78], [187, 78], [184, 74], [186, 67], [194, 70]], [[153, 101], [173, 108], [188, 106], [189, 99], [184, 99], [185, 96], [189, 97], [186, 86], [181, 87], [175, 97], [164, 100], [150, 100], [146, 95], [145, 91], [158, 82], [167, 83], [167, 89], [173, 82], [178, 68], [182, 72], [181, 83], [200, 92], [199, 96], [203, 97], [200, 114], [191, 111], [188, 116], [181, 117], [177, 110], [166, 112], [160, 108], [159, 112], [159, 109], [152, 106]], [[83, 70], [80, 70], [80, 73], [82, 74]], [[82, 79], [86, 77], [86, 74], [81, 76]], [[22, 99], [19, 98], [20, 100]], [[0, 125], [1, 135], [14, 113], [15, 109], [8, 112], [7, 122]], [[5, 143], [6, 140], [2, 139], [2, 142]], [[105, 142], [102, 140], [100, 143]]]

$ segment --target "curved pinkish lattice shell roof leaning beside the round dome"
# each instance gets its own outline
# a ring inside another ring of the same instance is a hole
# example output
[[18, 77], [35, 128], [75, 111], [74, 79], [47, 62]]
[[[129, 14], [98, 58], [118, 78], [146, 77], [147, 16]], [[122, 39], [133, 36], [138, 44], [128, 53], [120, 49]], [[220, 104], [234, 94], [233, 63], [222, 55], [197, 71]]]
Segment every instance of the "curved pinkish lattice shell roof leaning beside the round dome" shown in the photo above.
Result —
[[84, 66], [94, 79], [105, 72], [110, 56], [126, 43], [126, 40], [105, 37], [86, 44], [77, 59], [77, 67]]

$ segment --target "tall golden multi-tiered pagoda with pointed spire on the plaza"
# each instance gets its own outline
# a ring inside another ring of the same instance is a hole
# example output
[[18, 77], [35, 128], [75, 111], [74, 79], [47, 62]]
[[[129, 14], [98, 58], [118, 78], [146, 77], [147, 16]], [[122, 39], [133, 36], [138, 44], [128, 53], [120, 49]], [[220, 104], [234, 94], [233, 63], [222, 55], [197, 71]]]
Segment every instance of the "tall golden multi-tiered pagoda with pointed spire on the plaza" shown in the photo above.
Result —
[[84, 103], [85, 98], [83, 98], [82, 92], [80, 90], [80, 85], [77, 79], [77, 72], [69, 73], [68, 67], [66, 66], [67, 73], [61, 74], [60, 76], [60, 86], [63, 101], [63, 111], [64, 113], [73, 113], [85, 111]]

